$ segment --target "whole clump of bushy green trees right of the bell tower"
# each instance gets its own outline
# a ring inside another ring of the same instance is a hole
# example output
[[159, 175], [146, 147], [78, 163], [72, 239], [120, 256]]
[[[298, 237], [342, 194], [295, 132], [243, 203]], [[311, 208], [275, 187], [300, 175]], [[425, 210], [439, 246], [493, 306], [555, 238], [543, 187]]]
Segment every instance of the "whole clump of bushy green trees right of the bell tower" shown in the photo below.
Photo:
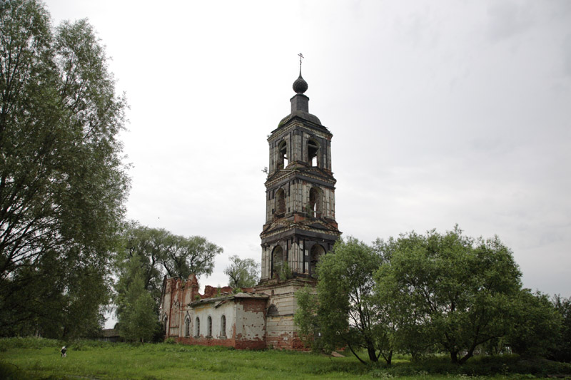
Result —
[[[522, 289], [512, 252], [498, 237], [467, 237], [456, 226], [335, 243], [318, 263], [315, 291], [296, 294], [294, 321], [315, 349], [348, 346], [358, 359], [393, 351], [445, 352], [463, 364], [485, 349], [564, 360], [569, 354], [569, 299]], [[565, 335], [567, 334], [567, 335]], [[565, 340], [567, 339], [567, 340]], [[567, 355], [567, 356], [566, 356]]]

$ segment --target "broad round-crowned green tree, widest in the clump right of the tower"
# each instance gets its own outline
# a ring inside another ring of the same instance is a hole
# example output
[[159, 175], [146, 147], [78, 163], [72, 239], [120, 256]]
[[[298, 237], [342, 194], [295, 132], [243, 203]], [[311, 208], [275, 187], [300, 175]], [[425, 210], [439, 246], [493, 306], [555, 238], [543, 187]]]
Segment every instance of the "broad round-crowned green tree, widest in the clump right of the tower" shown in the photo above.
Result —
[[454, 363], [517, 322], [520, 271], [497, 237], [410, 232], [376, 274], [378, 304], [388, 307], [403, 348], [438, 344]]

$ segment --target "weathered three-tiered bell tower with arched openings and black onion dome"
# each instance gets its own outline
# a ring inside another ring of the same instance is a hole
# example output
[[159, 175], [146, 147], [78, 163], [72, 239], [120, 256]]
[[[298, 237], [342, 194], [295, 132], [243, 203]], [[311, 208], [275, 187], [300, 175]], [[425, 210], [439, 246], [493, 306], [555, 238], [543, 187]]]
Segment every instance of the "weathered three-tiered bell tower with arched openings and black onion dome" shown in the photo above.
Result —
[[291, 113], [268, 137], [266, 224], [260, 235], [260, 284], [315, 278], [320, 255], [341, 235], [335, 221], [335, 178], [328, 128], [309, 113], [308, 83], [293, 82]]

